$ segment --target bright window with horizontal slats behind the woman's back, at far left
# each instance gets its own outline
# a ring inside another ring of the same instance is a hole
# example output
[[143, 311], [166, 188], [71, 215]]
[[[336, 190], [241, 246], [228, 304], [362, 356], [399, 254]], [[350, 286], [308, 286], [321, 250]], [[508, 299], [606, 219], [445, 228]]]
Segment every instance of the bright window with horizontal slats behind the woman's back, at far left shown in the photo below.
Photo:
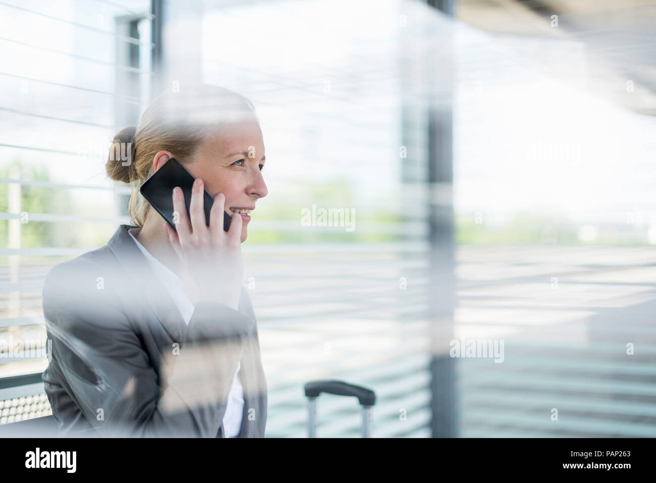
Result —
[[104, 174], [150, 99], [150, 1], [0, 5], [0, 424], [49, 413], [41, 287], [102, 246], [127, 190]]

